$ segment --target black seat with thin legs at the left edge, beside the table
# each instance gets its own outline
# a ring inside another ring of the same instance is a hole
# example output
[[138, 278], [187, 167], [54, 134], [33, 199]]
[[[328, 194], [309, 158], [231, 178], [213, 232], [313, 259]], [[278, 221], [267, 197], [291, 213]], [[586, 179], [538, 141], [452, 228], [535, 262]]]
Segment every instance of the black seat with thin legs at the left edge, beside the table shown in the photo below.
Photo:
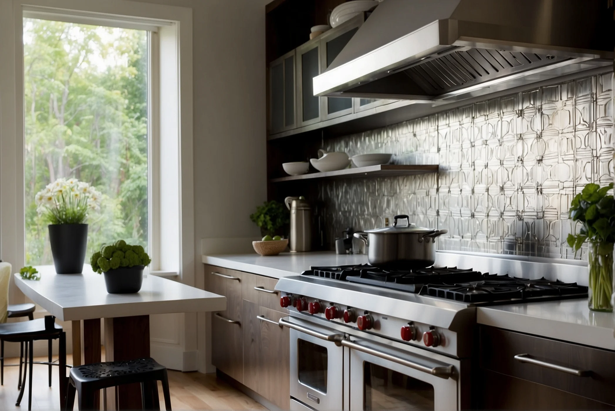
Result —
[[[62, 330], [62, 327], [60, 327], [60, 325], [55, 324], [54, 316], [46, 316], [45, 318], [38, 318], [32, 321], [7, 322], [5, 324], [0, 324], [0, 340], [22, 343], [25, 348], [23, 350], [23, 363], [30, 365], [30, 378], [28, 379], [28, 411], [32, 409], [32, 372], [34, 364], [34, 341], [52, 341], [55, 339], [60, 340], [60, 355], [58, 364], [53, 365], [58, 365], [60, 369], [66, 369], [66, 333]], [[49, 364], [52, 365], [51, 363]], [[23, 380], [21, 381], [19, 396], [17, 397], [17, 402], [15, 403], [15, 405], [19, 405], [22, 402], [27, 373], [28, 367], [25, 367], [23, 370]], [[62, 375], [66, 375], [66, 372], [60, 372], [60, 398], [65, 399], [66, 385], [65, 381], [63, 381]], [[62, 407], [62, 400], [60, 401], [60, 407]]]

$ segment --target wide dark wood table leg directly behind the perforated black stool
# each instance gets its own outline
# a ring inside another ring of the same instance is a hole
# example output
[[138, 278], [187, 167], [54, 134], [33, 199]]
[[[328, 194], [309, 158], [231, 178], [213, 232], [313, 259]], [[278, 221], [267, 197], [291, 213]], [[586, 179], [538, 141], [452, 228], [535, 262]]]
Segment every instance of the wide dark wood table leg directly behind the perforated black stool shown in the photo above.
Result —
[[[105, 318], [106, 361], [147, 358], [149, 354], [149, 316]], [[141, 410], [141, 385], [128, 384], [107, 389], [107, 409]]]

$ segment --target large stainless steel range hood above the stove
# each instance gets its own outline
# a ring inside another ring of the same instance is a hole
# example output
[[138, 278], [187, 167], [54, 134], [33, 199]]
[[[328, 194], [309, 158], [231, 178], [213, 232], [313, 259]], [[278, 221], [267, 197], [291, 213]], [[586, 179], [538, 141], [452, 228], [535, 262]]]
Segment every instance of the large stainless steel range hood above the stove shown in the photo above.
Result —
[[607, 0], [384, 0], [314, 95], [446, 102], [613, 65]]

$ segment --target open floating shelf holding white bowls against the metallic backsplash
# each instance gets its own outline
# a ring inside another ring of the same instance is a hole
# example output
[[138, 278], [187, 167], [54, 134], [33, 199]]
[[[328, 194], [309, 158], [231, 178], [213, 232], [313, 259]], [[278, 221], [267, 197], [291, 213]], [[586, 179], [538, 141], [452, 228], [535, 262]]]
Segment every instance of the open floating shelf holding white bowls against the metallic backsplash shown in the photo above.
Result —
[[360, 177], [389, 177], [394, 175], [414, 175], [437, 173], [437, 164], [426, 165], [398, 165], [381, 164], [379, 166], [343, 169], [328, 172], [289, 175], [288, 177], [272, 178], [272, 183], [296, 182], [298, 180], [311, 180], [313, 178], [360, 178]]

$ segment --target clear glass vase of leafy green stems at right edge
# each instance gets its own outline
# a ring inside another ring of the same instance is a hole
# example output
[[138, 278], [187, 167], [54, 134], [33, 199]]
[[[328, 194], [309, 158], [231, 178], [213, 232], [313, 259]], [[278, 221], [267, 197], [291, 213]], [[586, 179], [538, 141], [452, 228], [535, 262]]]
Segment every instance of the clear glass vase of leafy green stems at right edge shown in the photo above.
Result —
[[568, 234], [568, 245], [577, 252], [589, 242], [589, 309], [613, 311], [613, 243], [615, 202], [613, 183], [600, 188], [587, 184], [570, 204], [570, 218], [581, 223], [579, 234]]

